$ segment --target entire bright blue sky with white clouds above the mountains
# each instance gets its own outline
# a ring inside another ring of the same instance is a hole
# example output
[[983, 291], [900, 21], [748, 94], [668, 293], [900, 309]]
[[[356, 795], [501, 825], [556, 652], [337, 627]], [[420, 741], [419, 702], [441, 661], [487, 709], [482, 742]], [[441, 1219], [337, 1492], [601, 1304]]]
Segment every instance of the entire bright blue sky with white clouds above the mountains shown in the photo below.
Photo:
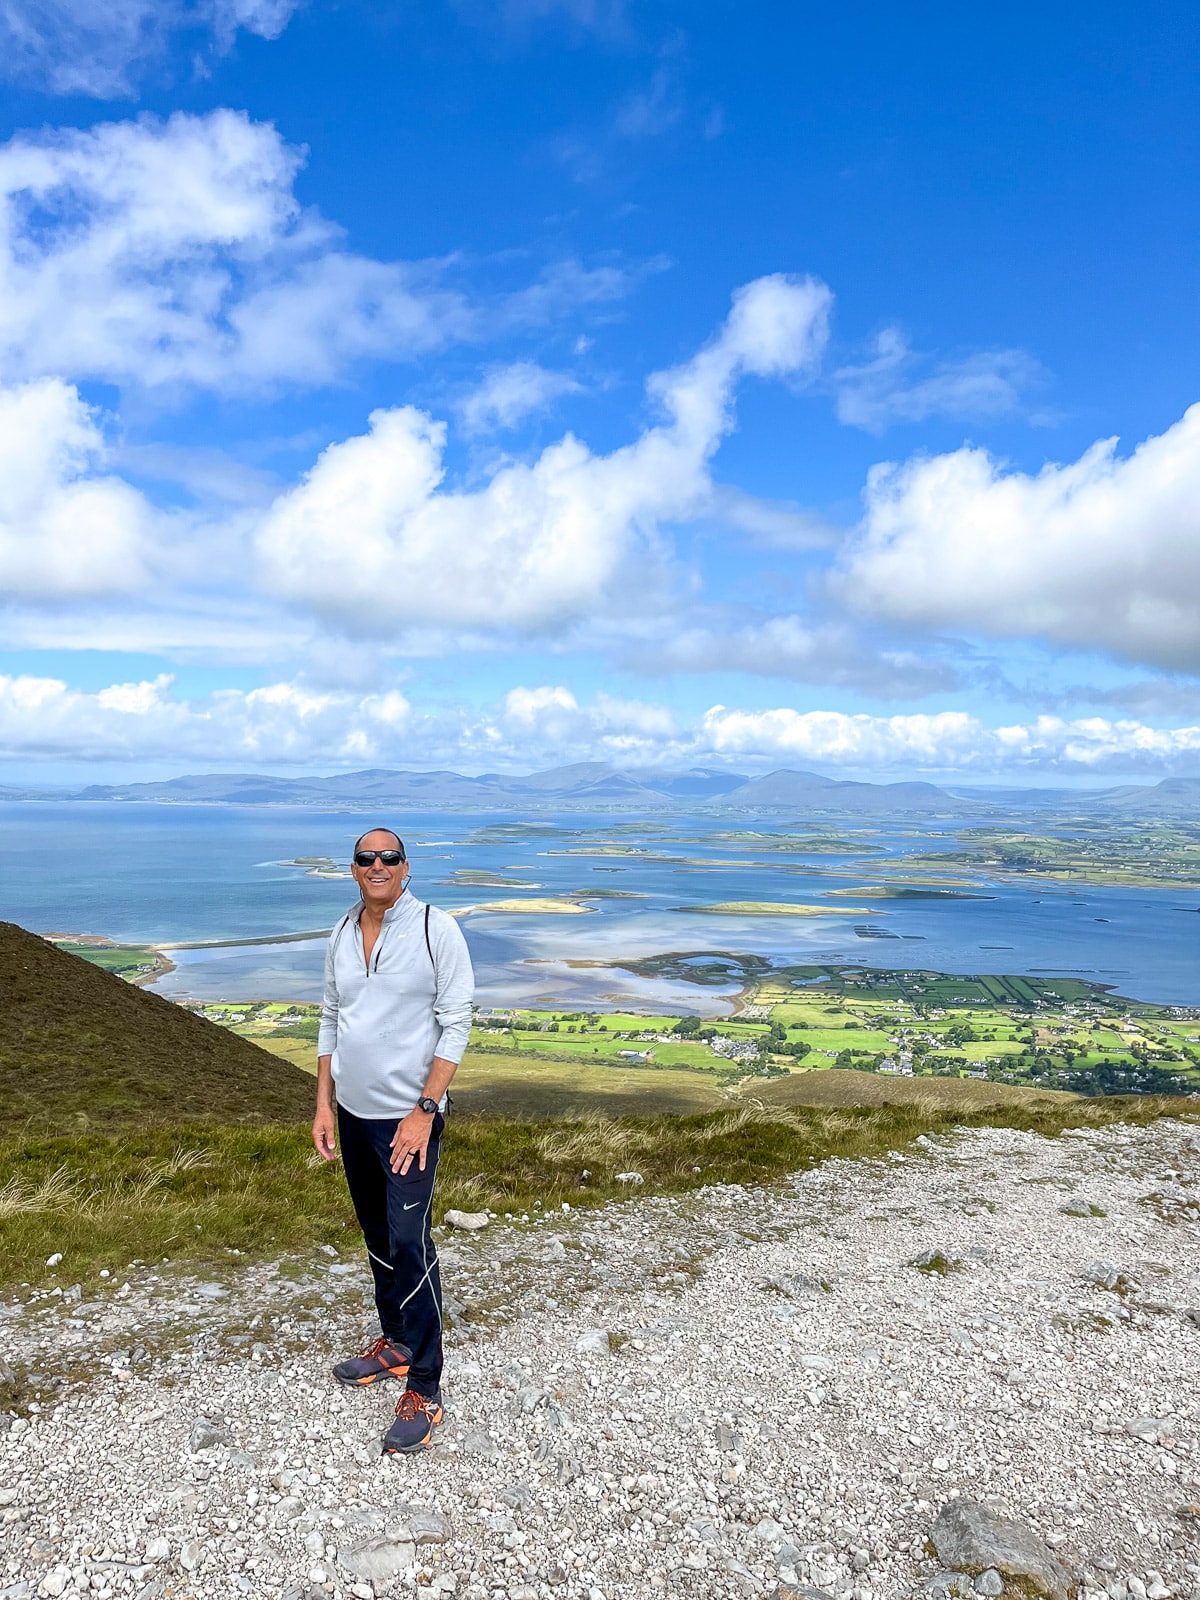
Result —
[[10, 0], [0, 782], [1200, 771], [1198, 50]]

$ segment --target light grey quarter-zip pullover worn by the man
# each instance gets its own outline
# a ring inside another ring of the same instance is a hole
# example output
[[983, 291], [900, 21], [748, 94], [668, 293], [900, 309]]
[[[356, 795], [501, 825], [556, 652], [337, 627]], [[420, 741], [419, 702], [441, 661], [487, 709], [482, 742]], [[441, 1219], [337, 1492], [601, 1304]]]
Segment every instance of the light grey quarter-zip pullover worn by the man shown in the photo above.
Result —
[[426, 1093], [434, 1056], [462, 1059], [475, 976], [462, 930], [437, 906], [426, 947], [426, 902], [408, 891], [384, 912], [368, 971], [362, 910], [330, 934], [317, 1053], [333, 1058], [339, 1106], [398, 1118]]

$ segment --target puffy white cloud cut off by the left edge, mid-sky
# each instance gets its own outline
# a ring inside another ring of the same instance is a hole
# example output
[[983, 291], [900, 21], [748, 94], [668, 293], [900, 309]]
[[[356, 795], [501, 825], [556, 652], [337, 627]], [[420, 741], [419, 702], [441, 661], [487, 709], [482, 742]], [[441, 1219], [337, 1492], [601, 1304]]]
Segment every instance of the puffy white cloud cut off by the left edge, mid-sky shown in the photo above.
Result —
[[166, 518], [102, 470], [104, 437], [70, 384], [0, 389], [0, 594], [75, 598], [147, 581]]

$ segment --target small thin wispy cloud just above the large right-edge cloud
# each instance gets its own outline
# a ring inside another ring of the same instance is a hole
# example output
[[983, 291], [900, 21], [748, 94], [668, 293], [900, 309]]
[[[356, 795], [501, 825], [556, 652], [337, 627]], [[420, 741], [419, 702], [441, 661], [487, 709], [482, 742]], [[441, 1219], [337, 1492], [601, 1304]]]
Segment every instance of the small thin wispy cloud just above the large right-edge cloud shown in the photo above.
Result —
[[1019, 411], [1024, 392], [1043, 378], [1024, 350], [981, 350], [917, 376], [923, 366], [928, 360], [909, 349], [904, 334], [885, 328], [872, 360], [834, 373], [838, 421], [882, 434], [893, 422], [930, 416], [1005, 416]]

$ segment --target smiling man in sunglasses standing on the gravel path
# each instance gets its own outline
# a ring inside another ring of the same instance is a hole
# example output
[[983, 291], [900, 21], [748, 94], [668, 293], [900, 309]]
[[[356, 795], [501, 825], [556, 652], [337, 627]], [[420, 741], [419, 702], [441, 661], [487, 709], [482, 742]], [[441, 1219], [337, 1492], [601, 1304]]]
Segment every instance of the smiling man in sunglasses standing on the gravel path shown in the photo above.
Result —
[[333, 1376], [358, 1387], [389, 1378], [405, 1386], [384, 1437], [392, 1454], [432, 1445], [442, 1422], [442, 1282], [430, 1213], [474, 976], [458, 923], [408, 893], [398, 834], [363, 834], [352, 872], [362, 899], [333, 930], [325, 957], [312, 1142], [331, 1162], [336, 1123], [381, 1328]]

